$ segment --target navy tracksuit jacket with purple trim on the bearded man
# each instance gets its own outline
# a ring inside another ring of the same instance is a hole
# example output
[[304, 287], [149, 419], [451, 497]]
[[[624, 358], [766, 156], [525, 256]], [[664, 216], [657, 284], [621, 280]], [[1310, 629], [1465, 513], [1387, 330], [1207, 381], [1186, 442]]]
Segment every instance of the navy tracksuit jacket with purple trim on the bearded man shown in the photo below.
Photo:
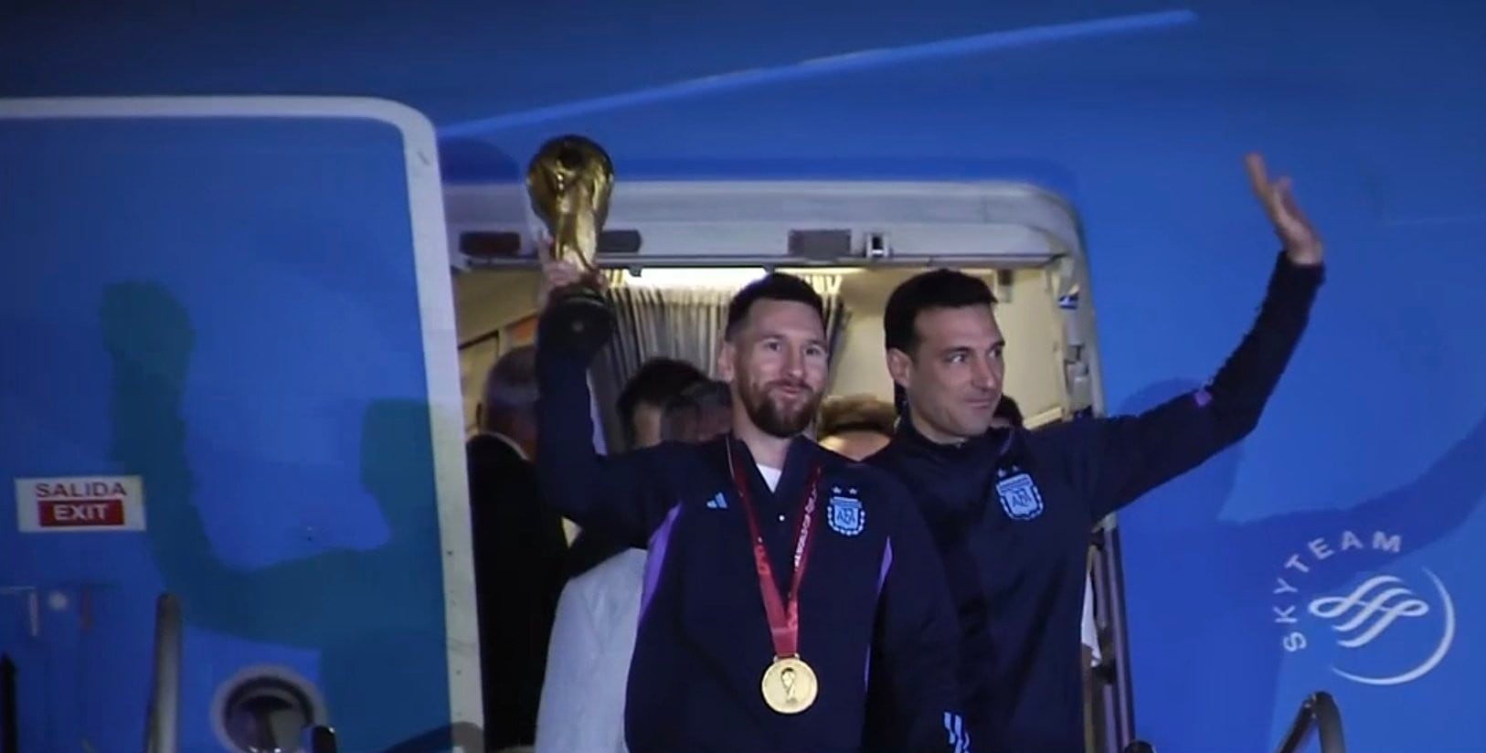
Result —
[[742, 443], [750, 498], [788, 599], [796, 515], [814, 463], [814, 544], [799, 587], [799, 656], [819, 677], [808, 710], [761, 694], [774, 658], [728, 440], [593, 450], [587, 359], [538, 346], [542, 496], [574, 521], [649, 550], [630, 665], [633, 753], [856, 753], [869, 676], [896, 698], [903, 753], [967, 753], [955, 685], [958, 631], [933, 541], [908, 490], [875, 468], [796, 438], [777, 493]]

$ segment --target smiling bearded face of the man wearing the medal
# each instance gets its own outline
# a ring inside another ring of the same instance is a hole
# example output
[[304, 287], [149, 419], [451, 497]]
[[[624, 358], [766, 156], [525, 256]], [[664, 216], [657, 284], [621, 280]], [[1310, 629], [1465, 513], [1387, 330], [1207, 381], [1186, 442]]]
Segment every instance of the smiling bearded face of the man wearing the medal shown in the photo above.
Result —
[[810, 426], [828, 374], [820, 313], [805, 303], [759, 299], [718, 361], [734, 402], [755, 426], [789, 438]]

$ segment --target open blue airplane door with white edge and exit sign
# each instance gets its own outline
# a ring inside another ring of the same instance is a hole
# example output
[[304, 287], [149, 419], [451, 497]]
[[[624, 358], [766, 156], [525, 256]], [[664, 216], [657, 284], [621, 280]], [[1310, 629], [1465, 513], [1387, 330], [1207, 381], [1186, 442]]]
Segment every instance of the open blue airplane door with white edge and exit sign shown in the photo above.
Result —
[[22, 750], [138, 750], [162, 591], [184, 752], [296, 750], [302, 722], [440, 752], [478, 722], [437, 165], [376, 100], [0, 100]]

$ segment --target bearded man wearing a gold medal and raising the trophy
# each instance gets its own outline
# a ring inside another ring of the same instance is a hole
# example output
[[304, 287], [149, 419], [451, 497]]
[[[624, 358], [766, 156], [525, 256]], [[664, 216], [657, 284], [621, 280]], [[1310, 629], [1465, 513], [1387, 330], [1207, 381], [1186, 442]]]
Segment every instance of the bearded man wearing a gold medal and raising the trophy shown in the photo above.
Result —
[[[563, 263], [544, 278], [581, 279]], [[859, 752], [869, 656], [903, 700], [902, 750], [969, 750], [948, 587], [906, 489], [801, 435], [828, 373], [822, 309], [795, 276], [746, 285], [718, 356], [731, 432], [614, 457], [593, 452], [583, 408], [594, 353], [560, 348], [541, 319], [547, 499], [649, 550], [626, 697], [635, 753]]]

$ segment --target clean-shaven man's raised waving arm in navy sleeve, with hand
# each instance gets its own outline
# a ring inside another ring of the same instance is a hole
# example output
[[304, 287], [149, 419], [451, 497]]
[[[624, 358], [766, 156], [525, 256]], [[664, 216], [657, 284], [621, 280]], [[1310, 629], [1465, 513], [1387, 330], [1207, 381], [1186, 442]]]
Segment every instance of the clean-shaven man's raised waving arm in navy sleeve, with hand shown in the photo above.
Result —
[[1207, 388], [1140, 416], [1076, 422], [1070, 475], [1089, 501], [1091, 518], [1138, 499], [1248, 435], [1300, 342], [1324, 276], [1321, 238], [1290, 192], [1248, 156], [1248, 177], [1284, 245], [1253, 328]]

